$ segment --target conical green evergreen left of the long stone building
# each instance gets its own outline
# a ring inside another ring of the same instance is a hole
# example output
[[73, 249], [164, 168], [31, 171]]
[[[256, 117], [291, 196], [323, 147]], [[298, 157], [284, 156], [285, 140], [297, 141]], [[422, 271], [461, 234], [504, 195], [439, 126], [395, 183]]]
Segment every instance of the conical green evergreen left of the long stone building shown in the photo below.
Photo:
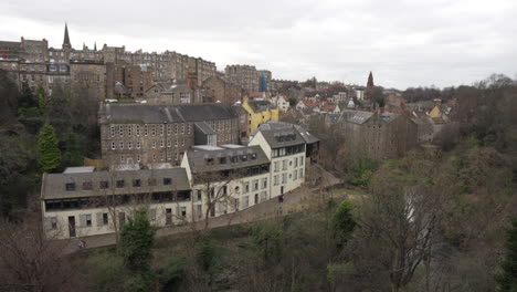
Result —
[[61, 150], [54, 128], [45, 124], [38, 138], [38, 164], [43, 171], [51, 171], [60, 166]]

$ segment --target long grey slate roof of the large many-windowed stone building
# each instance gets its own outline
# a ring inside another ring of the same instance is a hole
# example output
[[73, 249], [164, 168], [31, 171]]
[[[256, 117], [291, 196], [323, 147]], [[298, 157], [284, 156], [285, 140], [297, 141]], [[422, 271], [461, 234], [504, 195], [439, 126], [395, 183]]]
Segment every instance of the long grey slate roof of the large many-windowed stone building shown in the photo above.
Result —
[[157, 124], [231, 119], [238, 115], [225, 104], [103, 104], [99, 115], [108, 124]]

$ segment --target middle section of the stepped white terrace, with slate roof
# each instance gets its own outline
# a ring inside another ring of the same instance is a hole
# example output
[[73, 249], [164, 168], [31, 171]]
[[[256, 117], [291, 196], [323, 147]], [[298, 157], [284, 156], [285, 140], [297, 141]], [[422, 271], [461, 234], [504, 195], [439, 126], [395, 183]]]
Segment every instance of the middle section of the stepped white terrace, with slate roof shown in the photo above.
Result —
[[210, 217], [217, 217], [272, 199], [270, 159], [261, 146], [189, 152], [181, 166], [192, 175], [193, 200], [202, 202], [197, 215], [210, 205]]

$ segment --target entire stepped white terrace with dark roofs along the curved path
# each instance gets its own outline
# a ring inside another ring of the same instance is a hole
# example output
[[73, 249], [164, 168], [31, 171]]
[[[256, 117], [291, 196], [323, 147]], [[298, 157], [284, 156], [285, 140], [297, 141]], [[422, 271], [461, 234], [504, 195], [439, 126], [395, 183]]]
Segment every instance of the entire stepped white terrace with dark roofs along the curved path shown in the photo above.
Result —
[[113, 233], [141, 208], [157, 227], [240, 211], [299, 187], [317, 149], [318, 139], [302, 127], [268, 122], [249, 146], [198, 147], [180, 167], [43, 174], [45, 232], [52, 239]]

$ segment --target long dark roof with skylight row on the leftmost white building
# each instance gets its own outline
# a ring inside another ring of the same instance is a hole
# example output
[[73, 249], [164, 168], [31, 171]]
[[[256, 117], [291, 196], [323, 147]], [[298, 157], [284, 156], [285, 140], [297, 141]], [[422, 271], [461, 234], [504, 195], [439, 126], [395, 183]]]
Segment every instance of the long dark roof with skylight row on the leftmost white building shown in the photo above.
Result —
[[[156, 179], [156, 186], [149, 186], [149, 178]], [[171, 178], [170, 186], [163, 185], [163, 178]], [[141, 187], [134, 187], [133, 180], [140, 179]], [[117, 188], [116, 181], [124, 180], [124, 187]], [[108, 181], [107, 189], [101, 189], [101, 181]], [[92, 190], [83, 189], [83, 184], [89, 184]], [[66, 184], [75, 184], [75, 190], [67, 191]], [[140, 169], [126, 171], [93, 171], [75, 174], [44, 174], [42, 186], [43, 199], [64, 199], [80, 197], [96, 197], [104, 195], [129, 195], [158, 191], [189, 190], [190, 184], [184, 168]]]

